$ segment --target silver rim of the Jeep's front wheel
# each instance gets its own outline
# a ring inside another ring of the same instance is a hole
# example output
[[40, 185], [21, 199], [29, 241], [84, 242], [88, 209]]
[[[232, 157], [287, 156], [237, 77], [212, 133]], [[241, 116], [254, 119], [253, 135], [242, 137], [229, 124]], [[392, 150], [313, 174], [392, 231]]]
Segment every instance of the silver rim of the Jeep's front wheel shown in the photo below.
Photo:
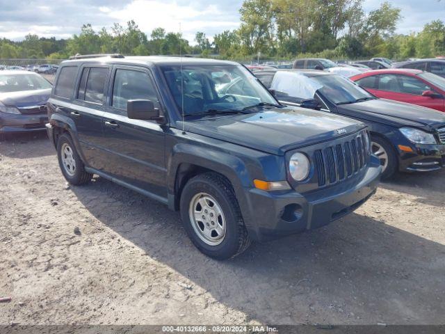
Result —
[[223, 209], [213, 196], [197, 193], [188, 209], [193, 230], [209, 246], [217, 246], [224, 240], [226, 222]]

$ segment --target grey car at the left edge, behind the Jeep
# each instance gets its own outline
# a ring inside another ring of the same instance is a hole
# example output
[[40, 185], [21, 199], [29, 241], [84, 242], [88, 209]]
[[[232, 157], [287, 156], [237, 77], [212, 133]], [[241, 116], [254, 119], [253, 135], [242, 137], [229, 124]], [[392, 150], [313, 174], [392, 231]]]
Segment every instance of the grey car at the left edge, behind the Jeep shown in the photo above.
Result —
[[45, 130], [51, 84], [28, 71], [0, 72], [0, 140], [7, 134]]

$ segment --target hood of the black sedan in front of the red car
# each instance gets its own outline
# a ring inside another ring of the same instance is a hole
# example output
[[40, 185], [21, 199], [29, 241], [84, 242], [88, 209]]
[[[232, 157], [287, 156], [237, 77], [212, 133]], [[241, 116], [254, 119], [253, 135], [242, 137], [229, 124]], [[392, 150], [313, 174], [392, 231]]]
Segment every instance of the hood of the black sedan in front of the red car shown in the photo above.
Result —
[[337, 108], [345, 116], [372, 118], [376, 121], [380, 119], [395, 126], [436, 128], [445, 124], [445, 113], [442, 111], [393, 100], [376, 99], [353, 104], [341, 104]]

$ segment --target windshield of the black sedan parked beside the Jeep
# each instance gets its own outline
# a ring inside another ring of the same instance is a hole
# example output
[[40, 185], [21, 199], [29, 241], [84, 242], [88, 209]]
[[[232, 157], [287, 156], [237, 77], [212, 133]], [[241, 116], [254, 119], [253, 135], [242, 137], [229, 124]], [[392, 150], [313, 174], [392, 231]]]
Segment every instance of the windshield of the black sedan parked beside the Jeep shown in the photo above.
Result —
[[318, 91], [334, 104], [353, 103], [375, 98], [353, 81], [340, 75], [317, 75], [311, 79], [323, 86]]

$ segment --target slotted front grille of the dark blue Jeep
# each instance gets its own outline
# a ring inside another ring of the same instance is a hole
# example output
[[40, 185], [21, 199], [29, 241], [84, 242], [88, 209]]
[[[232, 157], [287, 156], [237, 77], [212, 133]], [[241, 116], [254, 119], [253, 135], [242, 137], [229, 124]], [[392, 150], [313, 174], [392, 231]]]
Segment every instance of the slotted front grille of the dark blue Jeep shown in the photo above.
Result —
[[[368, 164], [371, 152], [370, 148], [366, 148], [365, 136], [368, 134], [361, 132], [352, 140], [315, 151], [318, 186], [344, 180]], [[445, 129], [443, 136], [445, 137]]]

